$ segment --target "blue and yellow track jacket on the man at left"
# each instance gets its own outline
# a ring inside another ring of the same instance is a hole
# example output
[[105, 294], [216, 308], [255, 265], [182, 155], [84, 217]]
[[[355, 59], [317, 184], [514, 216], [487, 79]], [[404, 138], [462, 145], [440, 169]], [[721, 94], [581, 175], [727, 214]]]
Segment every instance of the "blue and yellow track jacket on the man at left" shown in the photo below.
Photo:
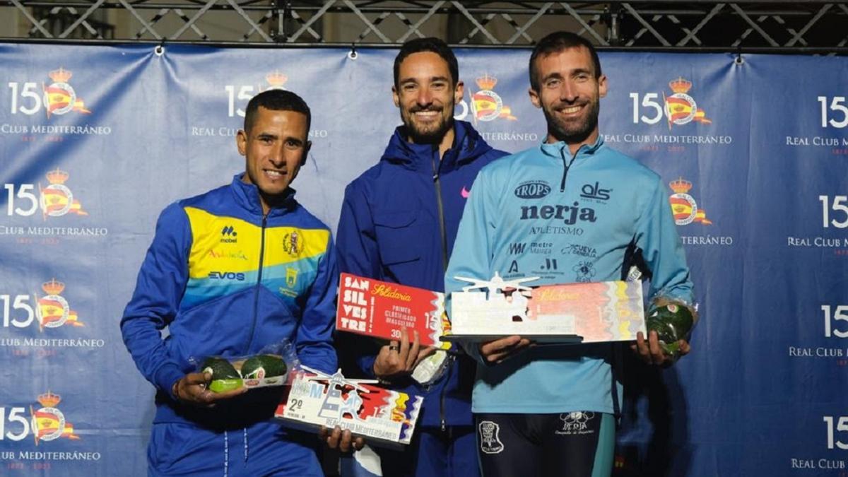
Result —
[[250, 355], [285, 339], [300, 362], [336, 370], [330, 230], [297, 203], [293, 189], [263, 216], [259, 191], [241, 177], [163, 210], [120, 321], [138, 369], [159, 390], [154, 423], [220, 418], [220, 407], [187, 409], [171, 395], [206, 356]]

